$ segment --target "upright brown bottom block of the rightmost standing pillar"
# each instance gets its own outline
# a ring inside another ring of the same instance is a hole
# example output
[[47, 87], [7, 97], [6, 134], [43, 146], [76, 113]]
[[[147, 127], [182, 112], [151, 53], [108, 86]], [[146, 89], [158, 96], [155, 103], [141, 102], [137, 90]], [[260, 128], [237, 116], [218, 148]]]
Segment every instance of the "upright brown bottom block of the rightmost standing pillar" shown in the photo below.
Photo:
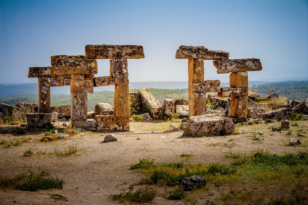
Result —
[[230, 117], [247, 118], [247, 98], [247, 96], [231, 98]]

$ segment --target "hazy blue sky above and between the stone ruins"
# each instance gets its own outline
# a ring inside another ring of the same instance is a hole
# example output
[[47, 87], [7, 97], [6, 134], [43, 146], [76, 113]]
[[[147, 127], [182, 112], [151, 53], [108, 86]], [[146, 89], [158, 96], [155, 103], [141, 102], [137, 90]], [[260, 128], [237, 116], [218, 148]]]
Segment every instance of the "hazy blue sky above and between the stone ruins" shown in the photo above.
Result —
[[[307, 0], [0, 0], [0, 83], [37, 82], [29, 67], [50, 66], [58, 54], [84, 54], [89, 44], [142, 45], [145, 58], [129, 59], [130, 82], [188, 81], [180, 45], [259, 58], [249, 81], [308, 77]], [[109, 60], [98, 60], [98, 76]], [[205, 61], [205, 80], [229, 81]]]

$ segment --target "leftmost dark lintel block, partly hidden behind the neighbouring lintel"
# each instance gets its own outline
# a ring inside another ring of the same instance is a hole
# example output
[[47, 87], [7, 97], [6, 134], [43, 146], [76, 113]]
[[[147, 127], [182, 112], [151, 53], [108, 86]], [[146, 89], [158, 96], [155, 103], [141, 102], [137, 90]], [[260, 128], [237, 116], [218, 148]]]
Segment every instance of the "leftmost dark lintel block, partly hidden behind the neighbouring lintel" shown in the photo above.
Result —
[[67, 74], [54, 74], [55, 67], [30, 67], [28, 77], [70, 77]]

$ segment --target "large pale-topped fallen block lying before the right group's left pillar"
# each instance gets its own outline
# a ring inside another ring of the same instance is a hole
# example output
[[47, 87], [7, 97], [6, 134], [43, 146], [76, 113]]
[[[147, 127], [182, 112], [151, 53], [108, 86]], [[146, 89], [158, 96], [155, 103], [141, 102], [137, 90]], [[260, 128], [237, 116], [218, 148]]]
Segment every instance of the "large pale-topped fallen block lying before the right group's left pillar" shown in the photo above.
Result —
[[192, 116], [188, 119], [188, 124], [183, 135], [218, 135], [222, 131], [223, 123], [224, 119], [217, 114]]

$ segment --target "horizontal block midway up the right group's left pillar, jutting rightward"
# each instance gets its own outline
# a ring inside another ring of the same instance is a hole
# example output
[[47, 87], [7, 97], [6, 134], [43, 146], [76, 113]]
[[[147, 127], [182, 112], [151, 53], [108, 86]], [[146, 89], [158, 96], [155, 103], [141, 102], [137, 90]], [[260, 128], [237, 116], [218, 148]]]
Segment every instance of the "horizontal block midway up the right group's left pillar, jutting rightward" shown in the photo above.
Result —
[[188, 83], [189, 93], [220, 92], [220, 81], [211, 80], [204, 83]]

